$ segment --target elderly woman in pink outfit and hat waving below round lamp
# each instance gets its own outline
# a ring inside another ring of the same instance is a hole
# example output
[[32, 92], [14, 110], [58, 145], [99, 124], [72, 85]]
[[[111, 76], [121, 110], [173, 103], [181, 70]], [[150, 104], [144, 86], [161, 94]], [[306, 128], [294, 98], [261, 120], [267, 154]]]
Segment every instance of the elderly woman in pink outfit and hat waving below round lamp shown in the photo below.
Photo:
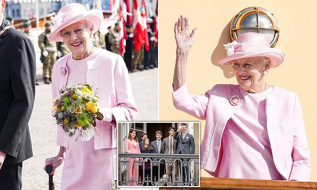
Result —
[[265, 35], [245, 33], [225, 45], [238, 85], [215, 85], [204, 95], [189, 95], [187, 56], [196, 34], [183, 15], [174, 26], [176, 64], [174, 106], [206, 120], [200, 166], [219, 178], [309, 181], [310, 150], [299, 97], [266, 83], [270, 69], [285, 54], [271, 48]]

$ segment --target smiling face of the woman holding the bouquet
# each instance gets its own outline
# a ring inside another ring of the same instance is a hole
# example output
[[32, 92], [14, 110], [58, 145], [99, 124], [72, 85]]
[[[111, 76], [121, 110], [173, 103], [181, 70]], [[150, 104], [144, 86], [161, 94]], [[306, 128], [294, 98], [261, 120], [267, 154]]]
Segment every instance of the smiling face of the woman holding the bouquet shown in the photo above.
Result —
[[61, 30], [64, 44], [71, 51], [73, 58], [89, 54], [91, 51], [93, 26], [87, 20], [75, 22]]

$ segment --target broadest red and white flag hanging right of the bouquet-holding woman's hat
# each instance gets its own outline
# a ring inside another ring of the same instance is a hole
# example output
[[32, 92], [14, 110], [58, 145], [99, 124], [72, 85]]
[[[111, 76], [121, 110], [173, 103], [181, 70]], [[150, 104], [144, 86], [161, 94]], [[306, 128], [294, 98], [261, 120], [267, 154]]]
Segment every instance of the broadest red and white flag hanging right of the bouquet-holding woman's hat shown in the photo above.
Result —
[[[134, 0], [133, 6], [133, 28], [134, 28], [134, 43], [136, 51], [139, 51], [142, 47], [143, 41], [145, 41], [146, 50], [149, 51], [149, 37], [147, 31], [147, 15], [145, 12], [145, 3], [144, 0], [144, 8], [141, 14], [140, 7], [138, 4], [138, 0]], [[144, 19], [145, 18], [145, 19]]]

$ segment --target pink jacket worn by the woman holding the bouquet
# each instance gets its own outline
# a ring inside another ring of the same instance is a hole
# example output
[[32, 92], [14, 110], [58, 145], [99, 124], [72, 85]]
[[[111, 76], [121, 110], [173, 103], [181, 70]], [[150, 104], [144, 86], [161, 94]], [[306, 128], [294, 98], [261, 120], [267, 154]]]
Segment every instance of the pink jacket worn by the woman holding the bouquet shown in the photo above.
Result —
[[[53, 67], [52, 95], [53, 98], [59, 96], [58, 89], [66, 86], [68, 79], [67, 60], [71, 58], [68, 54], [56, 61]], [[66, 70], [62, 75], [61, 69]], [[97, 60], [94, 63], [87, 63], [87, 84], [98, 89], [97, 95], [100, 97], [99, 106], [103, 109], [103, 114], [110, 118], [97, 121], [101, 127], [100, 131], [95, 129], [95, 150], [102, 148], [117, 147], [116, 121], [132, 121], [137, 115], [129, 73], [125, 62], [118, 54], [101, 49]], [[111, 120], [112, 115], [115, 120]], [[113, 127], [112, 127], [113, 126]], [[114, 133], [114, 139], [112, 139]], [[68, 149], [69, 137], [61, 127], [57, 131], [57, 145]]]

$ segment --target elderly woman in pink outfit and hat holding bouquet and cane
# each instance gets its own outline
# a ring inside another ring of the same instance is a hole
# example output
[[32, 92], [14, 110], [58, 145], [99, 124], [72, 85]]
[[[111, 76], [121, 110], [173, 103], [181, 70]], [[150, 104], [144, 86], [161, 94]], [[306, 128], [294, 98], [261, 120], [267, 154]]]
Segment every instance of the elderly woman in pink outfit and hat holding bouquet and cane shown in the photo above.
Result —
[[[89, 84], [100, 97], [104, 118], [94, 132], [76, 141], [58, 127], [57, 156], [45, 166], [56, 167], [64, 161], [61, 190], [107, 190], [117, 173], [116, 121], [134, 120], [137, 114], [128, 70], [122, 57], [93, 46], [92, 38], [103, 20], [100, 10], [86, 10], [82, 4], [63, 6], [52, 18], [55, 30], [50, 41], [63, 41], [71, 54], [56, 61], [53, 67], [52, 94], [74, 84]], [[94, 135], [93, 135], [94, 134]], [[114, 167], [111, 167], [114, 166]]]

